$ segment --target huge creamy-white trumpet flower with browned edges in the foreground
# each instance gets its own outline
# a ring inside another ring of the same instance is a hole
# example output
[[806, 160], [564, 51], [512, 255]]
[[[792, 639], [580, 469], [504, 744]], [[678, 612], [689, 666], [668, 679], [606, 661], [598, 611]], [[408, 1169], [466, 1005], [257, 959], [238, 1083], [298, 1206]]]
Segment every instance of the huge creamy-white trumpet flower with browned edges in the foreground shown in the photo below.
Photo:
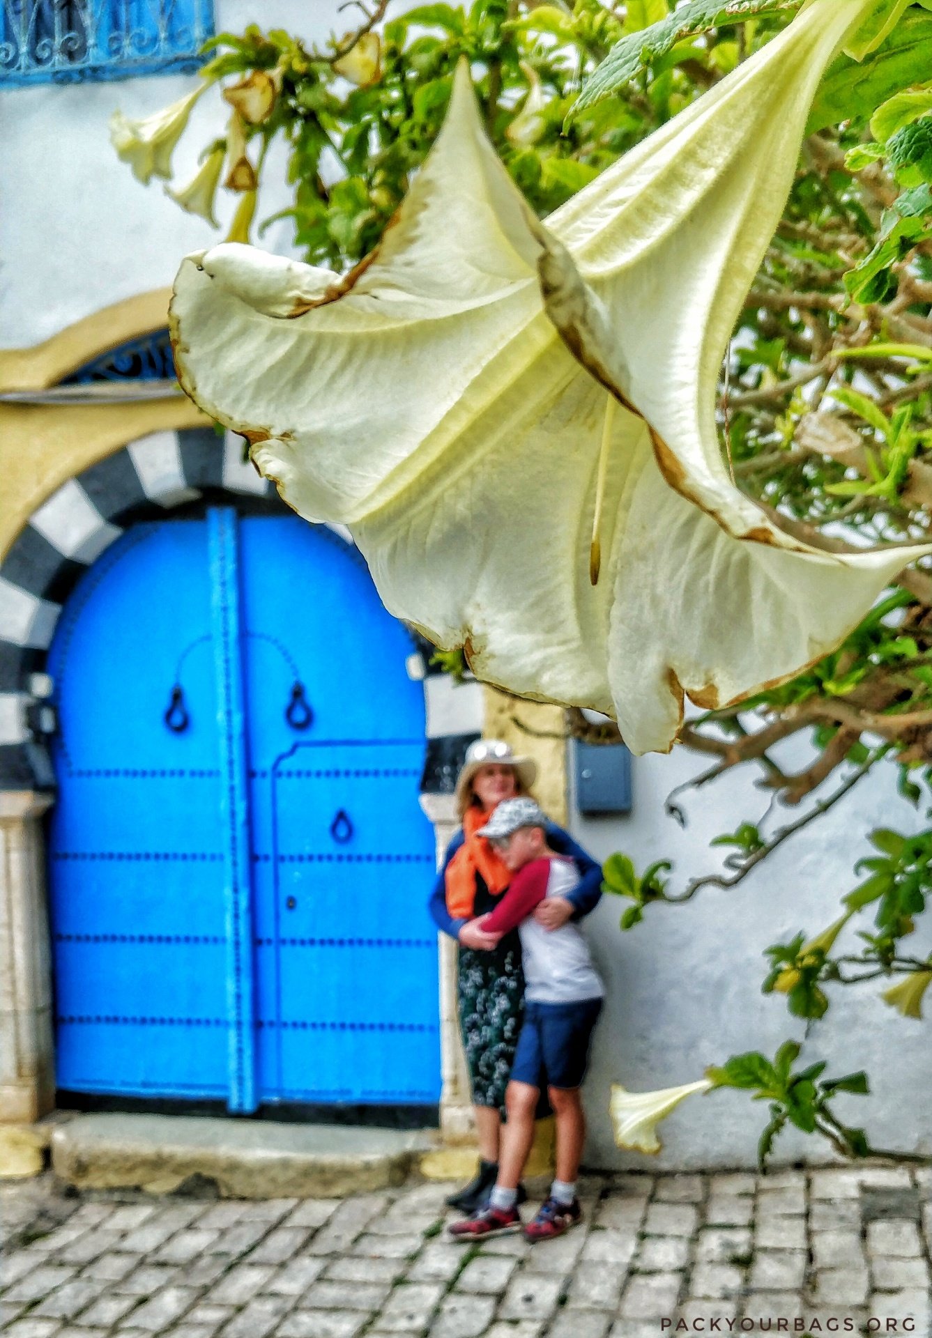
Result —
[[348, 274], [252, 249], [175, 281], [181, 383], [387, 607], [478, 677], [666, 751], [828, 653], [928, 547], [836, 554], [731, 482], [716, 377], [820, 75], [876, 0], [779, 36], [540, 223], [461, 67], [434, 149]]

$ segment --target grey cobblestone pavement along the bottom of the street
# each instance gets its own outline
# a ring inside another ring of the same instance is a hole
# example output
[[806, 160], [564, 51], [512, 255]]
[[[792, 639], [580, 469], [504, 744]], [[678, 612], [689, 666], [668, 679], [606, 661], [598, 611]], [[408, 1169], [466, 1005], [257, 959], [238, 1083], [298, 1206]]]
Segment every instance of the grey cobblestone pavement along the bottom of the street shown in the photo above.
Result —
[[589, 1176], [584, 1226], [534, 1247], [501, 1236], [479, 1248], [445, 1239], [441, 1184], [336, 1202], [52, 1192], [44, 1204], [35, 1188], [7, 1185], [0, 1331], [928, 1335], [931, 1188], [928, 1171], [880, 1167]]

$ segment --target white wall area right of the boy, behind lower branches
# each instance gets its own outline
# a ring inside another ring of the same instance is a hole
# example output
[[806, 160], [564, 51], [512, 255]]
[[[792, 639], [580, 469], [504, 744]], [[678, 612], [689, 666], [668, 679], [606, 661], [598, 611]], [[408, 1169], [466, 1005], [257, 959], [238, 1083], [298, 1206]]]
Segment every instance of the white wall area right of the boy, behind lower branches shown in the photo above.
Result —
[[[783, 756], [790, 756], [783, 753]], [[797, 756], [799, 756], [797, 753]], [[676, 749], [668, 757], [633, 761], [633, 811], [627, 818], [576, 818], [573, 834], [604, 859], [623, 850], [639, 871], [655, 859], [675, 860], [671, 891], [696, 874], [714, 871], [720, 851], [708, 842], [755, 820], [767, 793], [753, 788], [750, 767], [683, 796], [688, 826], [664, 815], [668, 792], [704, 771], [710, 759]], [[841, 913], [841, 895], [860, 882], [856, 859], [874, 854], [864, 832], [876, 826], [917, 831], [919, 812], [896, 795], [893, 768], [865, 777], [825, 818], [782, 846], [731, 891], [708, 887], [683, 906], [648, 907], [644, 921], [621, 933], [619, 919], [629, 904], [603, 898], [589, 919], [589, 938], [608, 985], [608, 1001], [596, 1033], [587, 1085], [591, 1136], [587, 1159], [593, 1165], [648, 1165], [653, 1159], [620, 1153], [608, 1120], [608, 1085], [651, 1090], [691, 1082], [708, 1064], [743, 1050], [773, 1056], [787, 1038], [803, 1041], [805, 1022], [790, 1017], [783, 995], [765, 995], [761, 982], [770, 943], [786, 942], [805, 929], [825, 929]], [[828, 787], [829, 789], [832, 785]], [[769, 831], [797, 816], [781, 809]], [[857, 930], [869, 930], [862, 913], [846, 926], [838, 947], [857, 951]], [[908, 941], [909, 953], [928, 953], [929, 927]], [[901, 1018], [878, 998], [889, 982], [830, 989], [832, 1006], [811, 1029], [801, 1061], [829, 1061], [830, 1076], [866, 1068], [870, 1097], [838, 1097], [838, 1115], [865, 1127], [877, 1147], [932, 1151], [928, 1094], [932, 1052], [928, 1024]], [[742, 1167], [755, 1157], [757, 1139], [767, 1121], [765, 1103], [747, 1093], [720, 1090], [690, 1097], [660, 1127], [660, 1167]], [[781, 1136], [777, 1161], [829, 1160], [828, 1144], [795, 1131]]]

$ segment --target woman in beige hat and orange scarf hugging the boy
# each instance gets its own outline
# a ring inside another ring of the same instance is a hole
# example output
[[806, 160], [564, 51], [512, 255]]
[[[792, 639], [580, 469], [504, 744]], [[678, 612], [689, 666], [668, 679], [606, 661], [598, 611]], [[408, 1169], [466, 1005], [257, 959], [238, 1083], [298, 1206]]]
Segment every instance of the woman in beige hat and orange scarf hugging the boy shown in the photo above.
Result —
[[[537, 776], [537, 763], [518, 757], [499, 739], [470, 744], [457, 777], [462, 828], [450, 842], [443, 868], [434, 884], [429, 910], [434, 923], [459, 943], [459, 1026], [473, 1085], [479, 1169], [475, 1179], [447, 1203], [474, 1212], [498, 1175], [498, 1139], [508, 1086], [521, 1030], [524, 975], [517, 930], [501, 941], [483, 934], [470, 921], [491, 910], [509, 883], [509, 871], [489, 842], [478, 836], [503, 799], [526, 795]], [[569, 855], [580, 882], [569, 896], [552, 896], [534, 911], [546, 929], [557, 929], [570, 915], [588, 915], [601, 896], [601, 867], [556, 823], [548, 843]]]

